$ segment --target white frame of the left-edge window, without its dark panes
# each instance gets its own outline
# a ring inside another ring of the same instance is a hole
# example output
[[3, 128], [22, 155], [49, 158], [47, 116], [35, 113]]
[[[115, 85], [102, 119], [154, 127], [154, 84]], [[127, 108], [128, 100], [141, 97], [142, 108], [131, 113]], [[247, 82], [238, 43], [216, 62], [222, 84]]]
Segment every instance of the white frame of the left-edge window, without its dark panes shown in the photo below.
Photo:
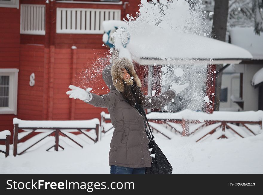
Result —
[[0, 68], [0, 76], [9, 76], [8, 107], [0, 107], [0, 114], [17, 115], [18, 72], [17, 68]]

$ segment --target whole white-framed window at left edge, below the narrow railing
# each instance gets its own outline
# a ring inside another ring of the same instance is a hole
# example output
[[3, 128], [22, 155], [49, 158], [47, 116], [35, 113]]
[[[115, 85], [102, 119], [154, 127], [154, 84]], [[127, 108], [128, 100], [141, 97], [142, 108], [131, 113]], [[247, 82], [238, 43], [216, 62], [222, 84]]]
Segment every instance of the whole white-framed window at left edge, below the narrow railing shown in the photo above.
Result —
[[17, 68], [0, 68], [0, 114], [17, 113]]

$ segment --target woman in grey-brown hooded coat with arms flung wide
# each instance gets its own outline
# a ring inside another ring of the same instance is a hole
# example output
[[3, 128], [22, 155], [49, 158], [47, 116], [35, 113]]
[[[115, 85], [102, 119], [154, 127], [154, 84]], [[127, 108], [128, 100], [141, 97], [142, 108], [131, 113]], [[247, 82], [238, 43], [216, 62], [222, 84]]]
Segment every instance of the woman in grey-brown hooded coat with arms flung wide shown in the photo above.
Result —
[[[110, 70], [110, 71], [109, 71]], [[111, 75], [110, 75], [111, 73]], [[158, 97], [143, 96], [141, 82], [129, 59], [121, 58], [103, 70], [103, 79], [110, 89], [105, 95], [96, 95], [74, 85], [66, 94], [95, 107], [108, 108], [114, 132], [110, 143], [109, 165], [111, 174], [144, 174], [151, 166], [145, 119], [134, 108], [161, 108], [189, 84], [173, 84]]]

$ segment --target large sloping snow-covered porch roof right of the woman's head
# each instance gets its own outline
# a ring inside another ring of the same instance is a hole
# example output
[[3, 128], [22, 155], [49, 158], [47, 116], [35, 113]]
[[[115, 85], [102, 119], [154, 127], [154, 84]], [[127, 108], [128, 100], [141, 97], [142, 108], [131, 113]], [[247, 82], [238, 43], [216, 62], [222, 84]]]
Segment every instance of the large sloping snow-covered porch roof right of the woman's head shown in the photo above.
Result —
[[[239, 63], [251, 59], [244, 48], [216, 39], [173, 30], [144, 26], [131, 32], [127, 49], [140, 64], [179, 63]], [[194, 61], [194, 62], [193, 62]], [[213, 61], [213, 62], [211, 62]]]

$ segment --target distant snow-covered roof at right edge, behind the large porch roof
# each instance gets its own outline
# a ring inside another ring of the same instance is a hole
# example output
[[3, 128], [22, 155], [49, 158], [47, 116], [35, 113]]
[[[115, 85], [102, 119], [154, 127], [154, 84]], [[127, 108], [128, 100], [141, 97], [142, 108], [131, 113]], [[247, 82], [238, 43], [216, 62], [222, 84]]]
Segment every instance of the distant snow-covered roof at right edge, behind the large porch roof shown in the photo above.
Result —
[[231, 43], [248, 50], [253, 59], [263, 59], [263, 36], [256, 35], [253, 27], [235, 27], [230, 30]]

